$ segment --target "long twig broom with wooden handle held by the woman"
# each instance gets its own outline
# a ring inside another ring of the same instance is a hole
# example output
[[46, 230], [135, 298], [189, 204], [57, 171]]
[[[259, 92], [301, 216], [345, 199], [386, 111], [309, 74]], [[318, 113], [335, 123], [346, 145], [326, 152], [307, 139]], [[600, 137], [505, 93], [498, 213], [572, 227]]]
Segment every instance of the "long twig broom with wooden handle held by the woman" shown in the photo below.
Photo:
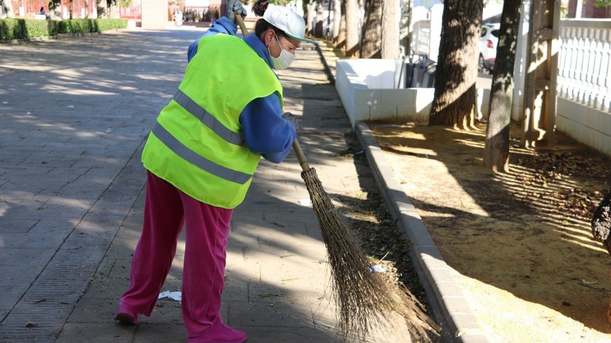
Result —
[[[242, 34], [248, 35], [241, 16], [235, 14], [235, 18]], [[297, 140], [293, 142], [293, 150], [303, 170], [301, 178], [305, 181], [327, 248], [331, 296], [338, 308], [339, 338], [343, 341], [349, 337], [364, 338], [390, 311], [398, 311], [408, 321], [410, 333], [415, 338], [428, 340], [426, 330], [436, 332], [439, 327], [426, 316], [423, 305], [406, 287], [400, 289], [385, 280], [381, 273], [373, 272], [370, 259], [338, 214]]]

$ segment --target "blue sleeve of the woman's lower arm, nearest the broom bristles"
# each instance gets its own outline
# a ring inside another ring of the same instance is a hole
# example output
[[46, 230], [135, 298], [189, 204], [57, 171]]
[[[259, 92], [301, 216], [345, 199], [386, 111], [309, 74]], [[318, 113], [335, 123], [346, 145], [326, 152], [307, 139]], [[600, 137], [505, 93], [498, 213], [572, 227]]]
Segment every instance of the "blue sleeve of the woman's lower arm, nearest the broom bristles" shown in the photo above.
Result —
[[273, 163], [280, 163], [287, 157], [297, 137], [295, 126], [282, 118], [276, 94], [247, 104], [240, 114], [240, 123], [247, 148]]

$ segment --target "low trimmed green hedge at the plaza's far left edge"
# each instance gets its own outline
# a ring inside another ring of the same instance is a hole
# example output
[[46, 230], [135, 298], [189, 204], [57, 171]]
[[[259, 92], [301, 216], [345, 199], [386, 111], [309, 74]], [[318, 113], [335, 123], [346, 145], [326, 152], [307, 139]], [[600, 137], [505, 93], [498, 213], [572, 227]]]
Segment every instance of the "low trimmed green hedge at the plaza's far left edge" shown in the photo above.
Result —
[[126, 19], [0, 20], [0, 41], [125, 29]]

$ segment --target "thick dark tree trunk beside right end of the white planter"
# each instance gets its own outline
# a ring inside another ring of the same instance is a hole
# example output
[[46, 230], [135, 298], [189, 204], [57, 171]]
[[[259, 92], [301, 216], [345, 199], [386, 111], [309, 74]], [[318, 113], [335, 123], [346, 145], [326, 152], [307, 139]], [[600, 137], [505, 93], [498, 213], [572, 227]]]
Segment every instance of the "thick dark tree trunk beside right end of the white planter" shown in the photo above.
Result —
[[445, 0], [429, 125], [474, 124], [481, 0]]

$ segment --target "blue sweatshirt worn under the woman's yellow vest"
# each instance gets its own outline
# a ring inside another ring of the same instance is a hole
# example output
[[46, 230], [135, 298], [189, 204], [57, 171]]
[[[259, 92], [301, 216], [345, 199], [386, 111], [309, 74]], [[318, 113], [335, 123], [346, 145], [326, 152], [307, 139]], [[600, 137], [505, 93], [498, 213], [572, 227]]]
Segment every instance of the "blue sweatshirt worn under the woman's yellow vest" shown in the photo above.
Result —
[[[236, 30], [237, 26], [224, 16], [216, 20], [205, 34], [189, 45], [187, 51], [189, 62], [197, 53], [200, 38], [215, 34], [235, 35]], [[243, 39], [271, 68], [269, 51], [265, 44], [254, 34], [247, 35]], [[240, 57], [236, 56], [236, 58]], [[263, 158], [274, 163], [280, 163], [287, 156], [297, 135], [295, 126], [282, 118], [280, 99], [275, 94], [254, 99], [247, 104], [240, 114], [240, 123], [247, 148], [255, 154], [262, 154]]]

